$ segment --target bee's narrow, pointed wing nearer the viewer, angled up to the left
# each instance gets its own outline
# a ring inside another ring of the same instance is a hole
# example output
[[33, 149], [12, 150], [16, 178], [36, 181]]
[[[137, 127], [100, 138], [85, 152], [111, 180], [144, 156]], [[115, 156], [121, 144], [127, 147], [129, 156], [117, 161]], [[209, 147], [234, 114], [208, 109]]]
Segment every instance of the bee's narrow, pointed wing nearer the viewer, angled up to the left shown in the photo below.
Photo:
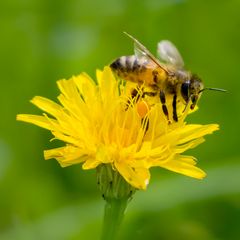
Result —
[[162, 68], [165, 72], [169, 72], [169, 70], [162, 63], [160, 63], [159, 60], [155, 58], [154, 55], [142, 43], [140, 43], [137, 39], [135, 39], [130, 34], [126, 32], [124, 33], [133, 40], [134, 53], [138, 59], [146, 58], [146, 60], [150, 60], [151, 62], [155, 63], [160, 68]]

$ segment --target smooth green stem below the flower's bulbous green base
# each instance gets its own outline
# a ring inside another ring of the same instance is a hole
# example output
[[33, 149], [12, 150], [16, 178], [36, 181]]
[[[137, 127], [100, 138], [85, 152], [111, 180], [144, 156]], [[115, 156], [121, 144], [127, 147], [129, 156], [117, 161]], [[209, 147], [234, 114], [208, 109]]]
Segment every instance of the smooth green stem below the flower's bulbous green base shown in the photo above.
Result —
[[102, 229], [102, 240], [114, 240], [117, 237], [128, 199], [111, 199], [106, 201], [104, 210], [104, 221]]

